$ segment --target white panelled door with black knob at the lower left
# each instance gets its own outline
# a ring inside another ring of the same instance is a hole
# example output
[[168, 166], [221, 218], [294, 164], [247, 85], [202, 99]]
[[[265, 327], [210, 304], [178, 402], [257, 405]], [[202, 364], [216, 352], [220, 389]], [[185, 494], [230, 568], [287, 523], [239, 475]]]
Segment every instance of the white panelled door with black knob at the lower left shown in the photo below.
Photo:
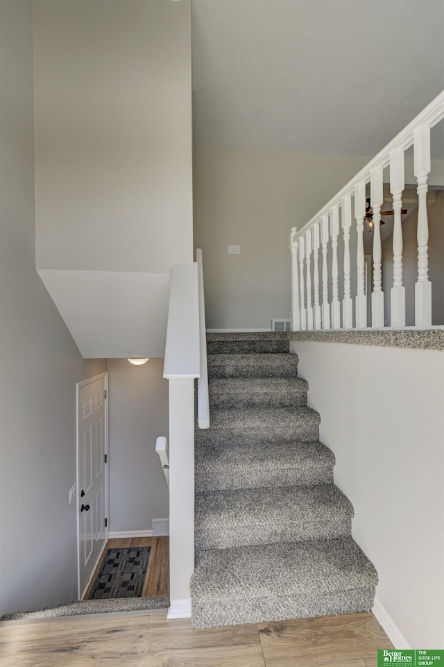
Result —
[[78, 596], [108, 538], [108, 373], [77, 385]]

